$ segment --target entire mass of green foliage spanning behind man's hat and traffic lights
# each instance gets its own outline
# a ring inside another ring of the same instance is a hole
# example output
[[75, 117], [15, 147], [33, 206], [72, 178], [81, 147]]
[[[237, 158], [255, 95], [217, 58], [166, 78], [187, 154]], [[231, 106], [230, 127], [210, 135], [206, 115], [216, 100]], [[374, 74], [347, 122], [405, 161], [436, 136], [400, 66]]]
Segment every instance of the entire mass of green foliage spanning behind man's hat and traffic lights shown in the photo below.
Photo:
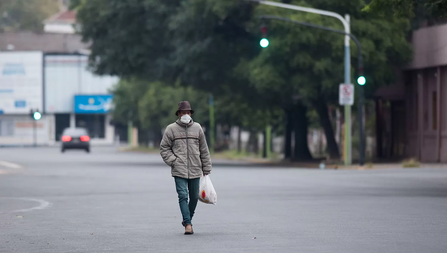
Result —
[[[405, 17], [364, 12], [364, 0], [290, 2], [350, 13], [351, 32], [362, 45], [367, 97], [393, 83], [395, 70], [410, 60]], [[172, 122], [180, 100], [203, 110], [194, 119], [206, 121], [209, 93], [215, 95], [220, 123], [251, 130], [273, 124], [281, 131], [283, 110], [299, 101], [309, 107], [312, 123], [318, 112], [327, 126], [325, 108], [337, 104], [338, 85], [344, 82], [342, 34], [267, 21], [270, 45], [259, 46], [258, 15], [342, 29], [331, 17], [240, 0], [78, 0], [72, 8], [78, 10], [83, 40], [92, 42], [93, 71], [127, 80], [115, 91], [115, 116], [144, 128]], [[357, 66], [353, 42], [351, 55], [351, 65]], [[354, 83], [355, 67], [351, 73]]]

